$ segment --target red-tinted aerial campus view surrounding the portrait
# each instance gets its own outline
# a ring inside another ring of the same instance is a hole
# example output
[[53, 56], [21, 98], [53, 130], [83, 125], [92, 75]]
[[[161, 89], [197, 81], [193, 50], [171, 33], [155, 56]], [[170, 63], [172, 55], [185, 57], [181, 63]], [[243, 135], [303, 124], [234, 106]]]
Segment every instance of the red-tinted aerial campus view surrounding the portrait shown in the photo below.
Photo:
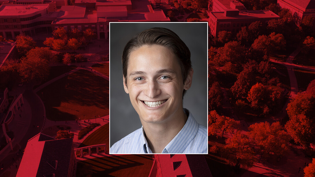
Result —
[[[315, 0], [0, 4], [0, 177], [315, 176]], [[208, 154], [110, 153], [110, 22], [208, 23]]]

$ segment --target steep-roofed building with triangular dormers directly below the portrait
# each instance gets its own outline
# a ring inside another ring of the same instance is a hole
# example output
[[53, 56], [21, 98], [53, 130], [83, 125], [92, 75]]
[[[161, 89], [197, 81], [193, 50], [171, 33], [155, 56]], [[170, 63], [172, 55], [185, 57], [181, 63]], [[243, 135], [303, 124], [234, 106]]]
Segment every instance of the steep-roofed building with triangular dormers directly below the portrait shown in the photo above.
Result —
[[202, 154], [154, 154], [149, 177], [212, 177]]

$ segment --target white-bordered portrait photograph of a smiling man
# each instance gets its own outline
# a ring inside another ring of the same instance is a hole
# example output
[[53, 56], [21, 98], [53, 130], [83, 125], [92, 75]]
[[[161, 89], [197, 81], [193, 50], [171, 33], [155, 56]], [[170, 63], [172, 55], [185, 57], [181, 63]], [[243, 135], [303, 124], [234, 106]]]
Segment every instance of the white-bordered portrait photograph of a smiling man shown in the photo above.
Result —
[[109, 40], [110, 153], [208, 153], [207, 23], [111, 22]]

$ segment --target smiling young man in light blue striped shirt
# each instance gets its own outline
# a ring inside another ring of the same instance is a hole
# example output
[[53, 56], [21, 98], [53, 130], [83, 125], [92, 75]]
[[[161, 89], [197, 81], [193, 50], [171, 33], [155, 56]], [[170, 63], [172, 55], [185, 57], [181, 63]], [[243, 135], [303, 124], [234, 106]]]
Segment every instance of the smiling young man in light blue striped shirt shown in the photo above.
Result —
[[186, 44], [169, 29], [147, 29], [126, 44], [122, 63], [124, 90], [142, 128], [111, 153], [207, 153], [207, 129], [183, 108], [193, 76]]

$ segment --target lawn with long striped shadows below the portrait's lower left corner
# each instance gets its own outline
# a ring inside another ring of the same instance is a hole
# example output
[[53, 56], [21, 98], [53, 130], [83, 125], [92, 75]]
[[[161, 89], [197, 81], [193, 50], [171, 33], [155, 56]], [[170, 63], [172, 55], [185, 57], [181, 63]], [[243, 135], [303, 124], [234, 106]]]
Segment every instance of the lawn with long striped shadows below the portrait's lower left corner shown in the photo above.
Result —
[[77, 177], [149, 176], [152, 155], [122, 155], [94, 158], [77, 163]]

